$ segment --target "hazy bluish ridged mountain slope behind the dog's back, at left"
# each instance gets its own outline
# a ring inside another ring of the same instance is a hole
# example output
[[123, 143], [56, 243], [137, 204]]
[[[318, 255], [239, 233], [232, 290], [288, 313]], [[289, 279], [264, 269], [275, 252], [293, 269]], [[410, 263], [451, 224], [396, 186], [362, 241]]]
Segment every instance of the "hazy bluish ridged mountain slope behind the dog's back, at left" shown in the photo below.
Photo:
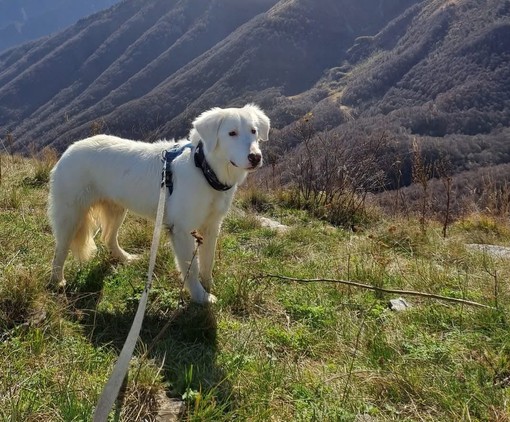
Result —
[[0, 56], [0, 125], [18, 149], [61, 149], [98, 119], [125, 136], [183, 134], [206, 107], [310, 88], [413, 3], [128, 0]]

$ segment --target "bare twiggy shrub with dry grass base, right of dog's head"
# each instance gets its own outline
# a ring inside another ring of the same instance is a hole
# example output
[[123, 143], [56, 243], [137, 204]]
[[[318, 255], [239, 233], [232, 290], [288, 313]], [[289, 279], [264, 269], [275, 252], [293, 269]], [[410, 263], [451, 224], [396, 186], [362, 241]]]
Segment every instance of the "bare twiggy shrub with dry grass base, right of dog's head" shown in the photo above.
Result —
[[369, 192], [385, 180], [379, 156], [385, 133], [352, 142], [339, 132], [314, 133], [308, 114], [295, 127], [299, 144], [287, 171], [293, 202], [334, 224], [353, 226], [366, 211]]

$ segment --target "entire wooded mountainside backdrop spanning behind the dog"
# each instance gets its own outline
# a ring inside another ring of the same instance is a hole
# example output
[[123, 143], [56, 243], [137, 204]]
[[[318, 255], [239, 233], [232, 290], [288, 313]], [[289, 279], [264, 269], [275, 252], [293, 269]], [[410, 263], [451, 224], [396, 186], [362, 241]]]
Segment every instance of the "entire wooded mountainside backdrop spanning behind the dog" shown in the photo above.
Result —
[[391, 187], [395, 157], [411, 182], [412, 142], [454, 173], [508, 163], [509, 80], [509, 0], [127, 0], [0, 56], [0, 136], [25, 152], [91, 131], [150, 141], [254, 101], [275, 160], [304, 116], [352, 144], [384, 134]]

